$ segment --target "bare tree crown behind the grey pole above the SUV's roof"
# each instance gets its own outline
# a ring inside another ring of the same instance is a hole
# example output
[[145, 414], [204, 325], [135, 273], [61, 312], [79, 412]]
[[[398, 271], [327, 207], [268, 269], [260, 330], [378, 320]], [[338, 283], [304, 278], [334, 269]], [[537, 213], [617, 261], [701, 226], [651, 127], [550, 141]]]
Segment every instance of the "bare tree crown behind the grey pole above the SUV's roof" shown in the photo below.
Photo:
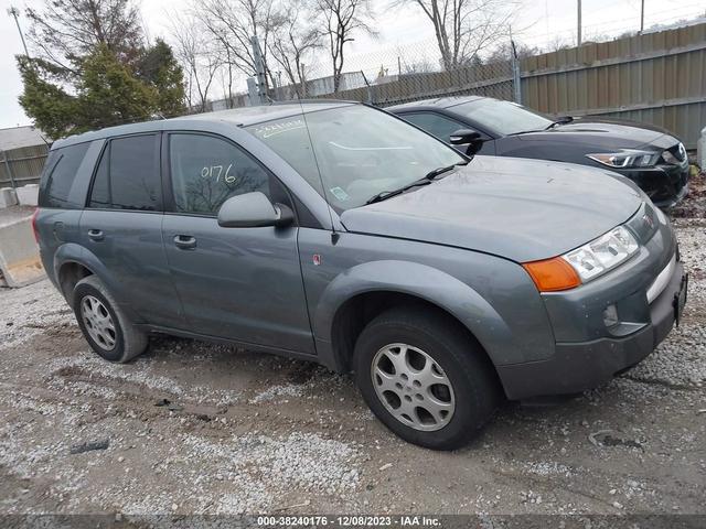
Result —
[[274, 86], [268, 65], [269, 40], [281, 21], [275, 0], [196, 0], [192, 13], [218, 42], [227, 64], [247, 76], [255, 73], [250, 39], [256, 36], [268, 84]]

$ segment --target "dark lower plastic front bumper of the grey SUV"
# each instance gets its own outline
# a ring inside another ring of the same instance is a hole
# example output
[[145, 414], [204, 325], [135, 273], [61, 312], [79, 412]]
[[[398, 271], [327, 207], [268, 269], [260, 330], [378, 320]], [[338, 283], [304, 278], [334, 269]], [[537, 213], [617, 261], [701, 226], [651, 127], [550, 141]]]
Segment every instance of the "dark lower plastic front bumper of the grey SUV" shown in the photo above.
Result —
[[633, 367], [672, 330], [675, 296], [686, 289], [685, 283], [684, 268], [677, 262], [670, 282], [650, 305], [650, 323], [627, 337], [557, 343], [555, 355], [546, 360], [498, 366], [507, 398], [576, 393]]

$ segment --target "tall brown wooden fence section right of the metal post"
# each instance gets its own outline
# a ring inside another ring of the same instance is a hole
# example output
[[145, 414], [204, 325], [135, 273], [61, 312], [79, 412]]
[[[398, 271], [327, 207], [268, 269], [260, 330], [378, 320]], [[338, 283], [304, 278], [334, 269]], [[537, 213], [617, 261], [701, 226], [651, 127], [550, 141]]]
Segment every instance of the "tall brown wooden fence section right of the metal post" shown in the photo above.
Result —
[[523, 104], [664, 127], [695, 149], [706, 126], [706, 23], [588, 43], [521, 62]]

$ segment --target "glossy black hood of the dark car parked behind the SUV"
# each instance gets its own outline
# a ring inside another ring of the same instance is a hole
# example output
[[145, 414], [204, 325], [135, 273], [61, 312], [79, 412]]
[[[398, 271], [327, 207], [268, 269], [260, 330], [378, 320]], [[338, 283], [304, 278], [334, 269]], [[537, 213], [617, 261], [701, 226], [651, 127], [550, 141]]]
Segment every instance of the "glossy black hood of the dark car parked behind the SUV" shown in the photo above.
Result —
[[641, 149], [653, 145], [653, 149], [667, 149], [677, 143], [677, 139], [666, 130], [646, 127], [629, 121], [599, 121], [585, 118], [570, 123], [559, 125], [553, 129], [517, 134], [522, 141], [554, 141], [568, 143], [586, 143], [591, 149]]

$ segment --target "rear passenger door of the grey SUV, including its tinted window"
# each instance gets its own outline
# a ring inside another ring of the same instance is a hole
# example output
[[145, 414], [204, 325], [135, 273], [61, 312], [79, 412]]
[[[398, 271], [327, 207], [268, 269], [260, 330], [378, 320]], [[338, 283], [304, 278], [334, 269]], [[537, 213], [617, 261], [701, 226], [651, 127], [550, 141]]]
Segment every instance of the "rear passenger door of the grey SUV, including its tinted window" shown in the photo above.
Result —
[[162, 244], [160, 133], [114, 138], [97, 164], [81, 240], [147, 323], [180, 326], [180, 305]]

